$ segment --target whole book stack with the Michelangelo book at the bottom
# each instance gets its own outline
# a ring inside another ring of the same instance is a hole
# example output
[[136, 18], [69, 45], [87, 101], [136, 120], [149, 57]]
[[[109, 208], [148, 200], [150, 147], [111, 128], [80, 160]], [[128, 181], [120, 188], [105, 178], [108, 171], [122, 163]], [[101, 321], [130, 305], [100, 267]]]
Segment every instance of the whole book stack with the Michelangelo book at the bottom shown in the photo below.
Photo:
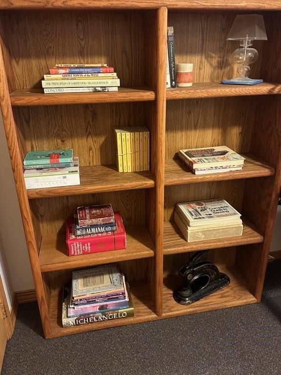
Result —
[[115, 264], [73, 271], [71, 285], [64, 285], [63, 327], [132, 316], [129, 285]]

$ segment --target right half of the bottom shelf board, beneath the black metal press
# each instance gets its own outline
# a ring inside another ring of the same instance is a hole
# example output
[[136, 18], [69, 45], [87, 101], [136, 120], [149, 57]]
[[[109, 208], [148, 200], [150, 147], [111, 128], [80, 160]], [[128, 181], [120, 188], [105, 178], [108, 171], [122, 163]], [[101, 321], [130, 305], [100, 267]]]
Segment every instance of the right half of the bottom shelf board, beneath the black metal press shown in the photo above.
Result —
[[230, 284], [221, 291], [210, 294], [188, 306], [180, 305], [173, 298], [173, 290], [181, 286], [180, 277], [172, 275], [164, 279], [163, 317], [194, 314], [257, 302], [236, 270], [220, 267], [220, 271], [229, 276]]

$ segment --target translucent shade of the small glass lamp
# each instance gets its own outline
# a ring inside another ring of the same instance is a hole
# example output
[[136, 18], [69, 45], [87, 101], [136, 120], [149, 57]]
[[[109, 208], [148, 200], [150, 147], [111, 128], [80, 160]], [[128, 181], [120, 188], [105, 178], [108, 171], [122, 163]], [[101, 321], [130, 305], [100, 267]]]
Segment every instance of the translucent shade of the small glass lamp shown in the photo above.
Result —
[[250, 39], [267, 41], [263, 17], [261, 14], [243, 14], [236, 16], [227, 41]]

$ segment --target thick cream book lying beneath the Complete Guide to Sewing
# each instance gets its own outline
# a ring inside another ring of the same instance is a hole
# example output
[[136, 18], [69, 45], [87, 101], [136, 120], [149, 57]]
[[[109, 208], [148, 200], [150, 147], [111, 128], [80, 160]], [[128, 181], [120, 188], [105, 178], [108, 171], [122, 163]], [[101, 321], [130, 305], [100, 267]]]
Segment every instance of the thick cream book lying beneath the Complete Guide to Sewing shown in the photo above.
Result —
[[174, 221], [181, 230], [181, 233], [187, 242], [241, 236], [243, 232], [243, 225], [241, 223], [224, 223], [223, 225], [212, 224], [205, 227], [188, 227], [182, 220], [181, 215], [177, 210], [174, 213]]

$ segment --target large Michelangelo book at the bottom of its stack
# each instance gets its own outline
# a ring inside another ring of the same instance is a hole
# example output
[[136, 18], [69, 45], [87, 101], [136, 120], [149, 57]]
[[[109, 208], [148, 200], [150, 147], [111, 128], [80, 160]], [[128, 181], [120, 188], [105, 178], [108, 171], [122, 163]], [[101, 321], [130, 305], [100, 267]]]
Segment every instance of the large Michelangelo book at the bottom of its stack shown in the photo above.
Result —
[[109, 312], [95, 312], [89, 315], [68, 318], [67, 310], [68, 310], [68, 305], [70, 302], [70, 290], [69, 288], [63, 287], [62, 316], [61, 316], [62, 326], [71, 327], [71, 326], [78, 326], [78, 325], [83, 325], [83, 324], [91, 324], [91, 323], [98, 323], [98, 322], [103, 322], [103, 321], [110, 321], [110, 320], [115, 320], [115, 319], [133, 317], [134, 305], [133, 305], [132, 296], [129, 290], [128, 283], [126, 283], [126, 288], [127, 288], [128, 295], [129, 295], [129, 303], [128, 303], [129, 306], [127, 308], [116, 310], [116, 311], [109, 311]]

